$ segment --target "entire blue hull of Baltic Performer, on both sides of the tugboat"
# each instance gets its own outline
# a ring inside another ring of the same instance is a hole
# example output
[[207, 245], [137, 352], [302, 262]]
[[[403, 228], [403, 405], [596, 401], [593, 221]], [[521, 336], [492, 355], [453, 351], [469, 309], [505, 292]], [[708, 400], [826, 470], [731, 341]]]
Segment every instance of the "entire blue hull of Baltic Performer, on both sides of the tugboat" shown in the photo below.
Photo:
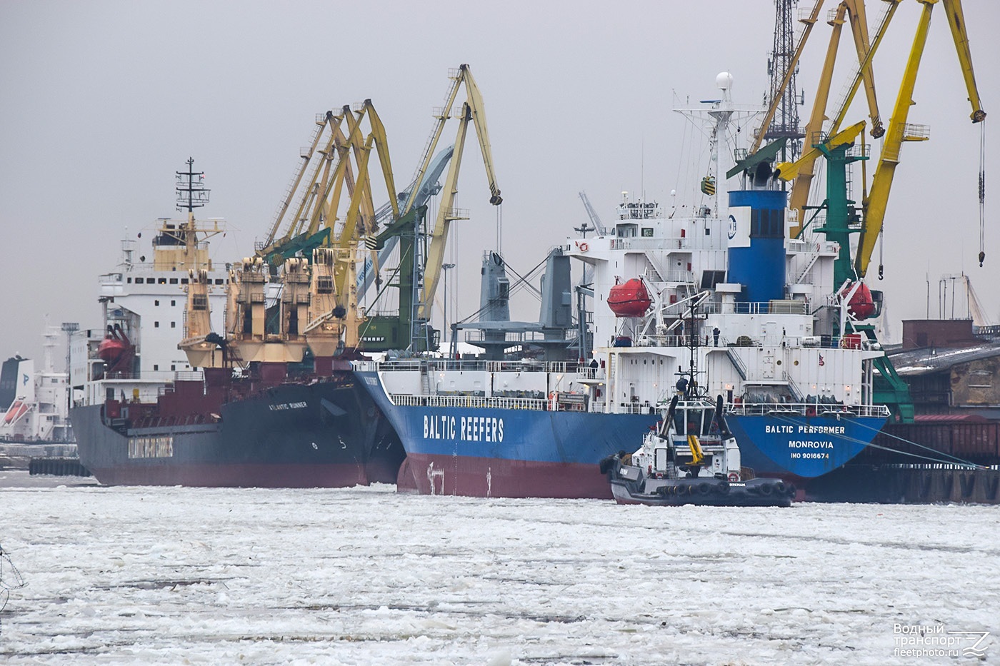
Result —
[[[633, 451], [655, 414], [394, 405], [377, 373], [359, 372], [406, 451], [401, 492], [473, 497], [611, 498], [599, 465]], [[728, 415], [742, 465], [797, 483], [855, 458], [883, 416]]]

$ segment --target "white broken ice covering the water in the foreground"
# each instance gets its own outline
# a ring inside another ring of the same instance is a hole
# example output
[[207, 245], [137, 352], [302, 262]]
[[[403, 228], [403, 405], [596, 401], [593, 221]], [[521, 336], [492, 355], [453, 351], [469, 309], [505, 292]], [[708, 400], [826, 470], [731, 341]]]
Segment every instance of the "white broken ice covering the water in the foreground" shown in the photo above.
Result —
[[0, 488], [6, 664], [1000, 663], [995, 506], [55, 483]]

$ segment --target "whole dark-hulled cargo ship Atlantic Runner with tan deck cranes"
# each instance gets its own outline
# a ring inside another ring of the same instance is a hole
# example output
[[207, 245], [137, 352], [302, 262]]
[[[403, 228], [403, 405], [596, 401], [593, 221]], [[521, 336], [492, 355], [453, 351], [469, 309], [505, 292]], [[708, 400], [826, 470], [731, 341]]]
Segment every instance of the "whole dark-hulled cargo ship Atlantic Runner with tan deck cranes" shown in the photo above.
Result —
[[177, 175], [187, 218], [158, 221], [152, 261], [123, 242], [102, 327], [73, 338], [81, 463], [107, 485], [394, 482], [403, 451], [337, 355], [331, 251], [273, 275], [257, 258], [220, 269], [208, 239], [222, 230], [193, 212], [202, 175], [191, 160]]

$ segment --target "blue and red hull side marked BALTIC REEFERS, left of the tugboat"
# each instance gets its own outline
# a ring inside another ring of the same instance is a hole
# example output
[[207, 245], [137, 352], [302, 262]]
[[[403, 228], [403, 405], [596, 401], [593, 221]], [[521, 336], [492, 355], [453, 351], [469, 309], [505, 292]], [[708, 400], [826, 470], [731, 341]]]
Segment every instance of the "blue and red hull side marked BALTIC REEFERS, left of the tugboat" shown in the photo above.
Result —
[[600, 461], [631, 451], [655, 414], [393, 405], [359, 373], [406, 451], [397, 489], [470, 497], [611, 499]]

